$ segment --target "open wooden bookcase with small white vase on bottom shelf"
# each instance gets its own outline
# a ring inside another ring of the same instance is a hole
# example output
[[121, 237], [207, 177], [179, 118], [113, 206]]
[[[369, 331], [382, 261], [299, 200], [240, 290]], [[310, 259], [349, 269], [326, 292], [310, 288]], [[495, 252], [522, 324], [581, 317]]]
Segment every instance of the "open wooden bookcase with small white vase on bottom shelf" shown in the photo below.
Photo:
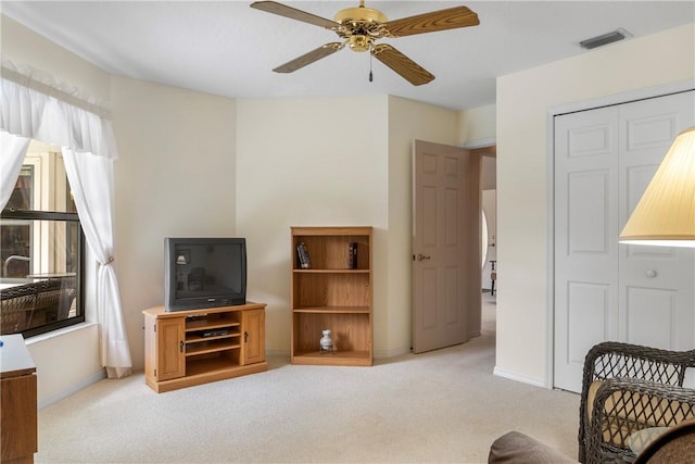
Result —
[[[372, 365], [372, 228], [292, 227], [291, 234], [292, 364]], [[308, 268], [300, 264], [300, 243]], [[331, 330], [332, 352], [320, 350], [324, 329]]]

